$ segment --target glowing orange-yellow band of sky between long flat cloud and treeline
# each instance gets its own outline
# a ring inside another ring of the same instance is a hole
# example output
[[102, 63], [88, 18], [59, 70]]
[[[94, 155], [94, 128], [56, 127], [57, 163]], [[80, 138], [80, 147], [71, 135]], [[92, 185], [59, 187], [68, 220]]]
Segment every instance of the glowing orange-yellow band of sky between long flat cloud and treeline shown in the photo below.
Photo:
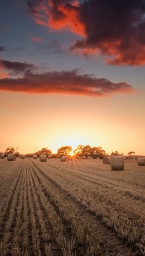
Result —
[[109, 154], [144, 154], [141, 92], [124, 96], [124, 101], [120, 96], [96, 100], [11, 92], [1, 92], [1, 99], [1, 151], [11, 145], [20, 147], [22, 154], [43, 147], [55, 153], [64, 145], [74, 149], [82, 144], [102, 147]]

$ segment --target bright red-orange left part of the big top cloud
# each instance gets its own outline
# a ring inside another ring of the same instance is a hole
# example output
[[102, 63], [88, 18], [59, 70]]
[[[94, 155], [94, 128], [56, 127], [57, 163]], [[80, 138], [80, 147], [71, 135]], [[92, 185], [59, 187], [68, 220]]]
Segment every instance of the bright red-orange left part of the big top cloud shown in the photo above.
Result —
[[85, 25], [79, 20], [79, 1], [49, 0], [28, 2], [36, 24], [48, 26], [50, 29], [70, 29], [85, 36]]

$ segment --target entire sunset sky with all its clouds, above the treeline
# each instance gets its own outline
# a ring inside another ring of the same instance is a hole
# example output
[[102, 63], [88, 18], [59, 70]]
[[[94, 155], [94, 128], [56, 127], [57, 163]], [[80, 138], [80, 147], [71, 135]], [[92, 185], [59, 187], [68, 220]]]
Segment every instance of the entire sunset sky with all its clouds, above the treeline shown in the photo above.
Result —
[[0, 152], [145, 155], [145, 1], [0, 1]]

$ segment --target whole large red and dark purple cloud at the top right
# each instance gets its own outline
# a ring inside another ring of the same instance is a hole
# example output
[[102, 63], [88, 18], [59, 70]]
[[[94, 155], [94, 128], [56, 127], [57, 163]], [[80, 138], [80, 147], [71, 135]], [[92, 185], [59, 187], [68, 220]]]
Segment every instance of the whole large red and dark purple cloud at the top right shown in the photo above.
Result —
[[110, 65], [145, 65], [144, 0], [37, 0], [28, 6], [37, 24], [83, 37], [72, 51], [100, 52]]

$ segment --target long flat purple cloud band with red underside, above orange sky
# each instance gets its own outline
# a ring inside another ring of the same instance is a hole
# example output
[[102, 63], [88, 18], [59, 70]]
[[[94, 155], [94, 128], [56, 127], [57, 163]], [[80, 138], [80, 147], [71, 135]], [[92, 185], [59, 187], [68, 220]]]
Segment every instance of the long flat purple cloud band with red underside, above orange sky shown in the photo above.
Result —
[[38, 67], [1, 60], [0, 68], [23, 74], [17, 78], [1, 78], [0, 90], [25, 93], [62, 93], [106, 97], [113, 93], [133, 93], [134, 88], [127, 83], [113, 83], [105, 78], [96, 78], [92, 74], [81, 74], [80, 70], [39, 73]]

